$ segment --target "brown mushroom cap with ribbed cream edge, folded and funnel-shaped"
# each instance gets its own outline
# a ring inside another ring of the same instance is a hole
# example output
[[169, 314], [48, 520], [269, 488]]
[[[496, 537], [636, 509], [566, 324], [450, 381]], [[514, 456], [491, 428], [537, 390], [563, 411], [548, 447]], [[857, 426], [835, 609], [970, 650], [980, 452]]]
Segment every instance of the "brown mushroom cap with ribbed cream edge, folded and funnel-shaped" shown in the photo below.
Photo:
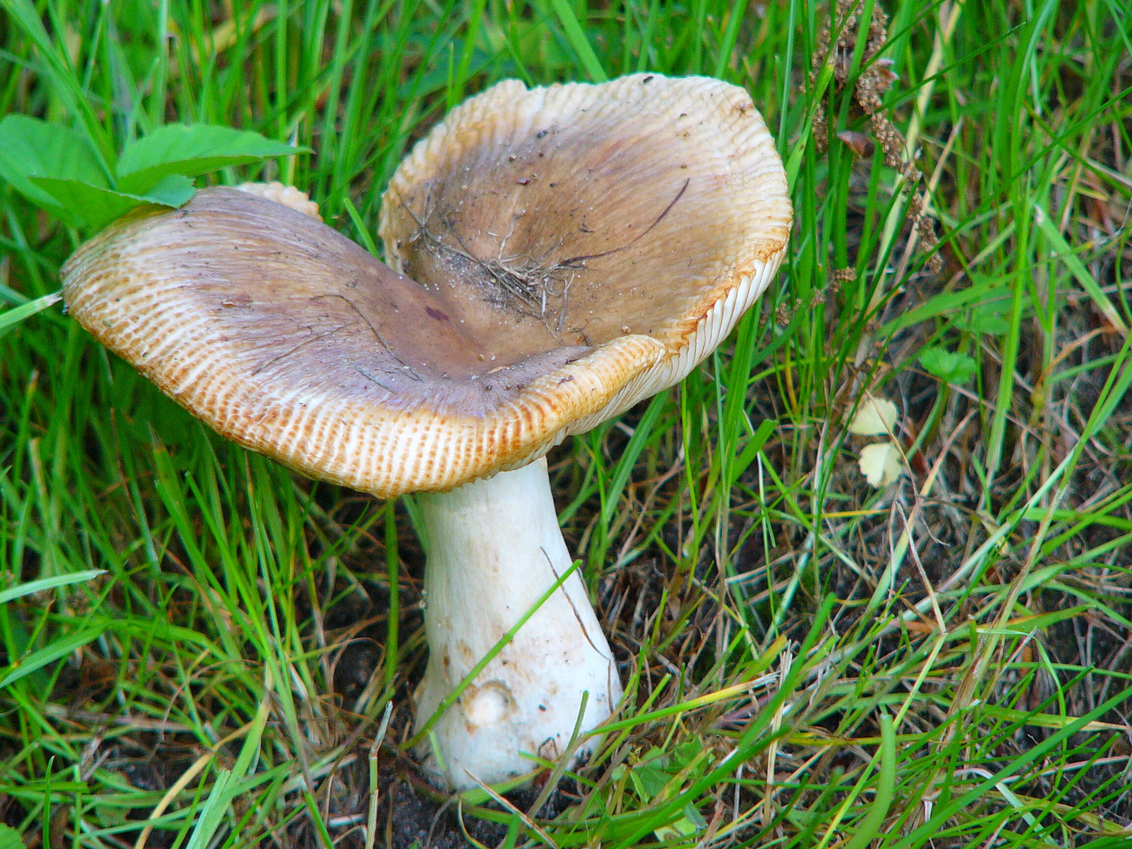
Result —
[[380, 497], [522, 466], [683, 378], [791, 216], [747, 93], [655, 75], [455, 109], [386, 192], [395, 269], [273, 197], [136, 211], [68, 260], [65, 298], [221, 435]]

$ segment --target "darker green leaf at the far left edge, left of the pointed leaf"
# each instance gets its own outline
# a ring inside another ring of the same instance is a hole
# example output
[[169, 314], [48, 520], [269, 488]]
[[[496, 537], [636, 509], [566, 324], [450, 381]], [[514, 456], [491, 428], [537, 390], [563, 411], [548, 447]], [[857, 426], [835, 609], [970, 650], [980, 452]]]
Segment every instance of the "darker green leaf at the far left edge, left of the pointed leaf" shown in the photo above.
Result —
[[75, 223], [66, 205], [33, 182], [33, 178], [80, 180], [98, 188], [110, 182], [87, 138], [69, 127], [27, 115], [0, 121], [0, 177], [36, 206]]

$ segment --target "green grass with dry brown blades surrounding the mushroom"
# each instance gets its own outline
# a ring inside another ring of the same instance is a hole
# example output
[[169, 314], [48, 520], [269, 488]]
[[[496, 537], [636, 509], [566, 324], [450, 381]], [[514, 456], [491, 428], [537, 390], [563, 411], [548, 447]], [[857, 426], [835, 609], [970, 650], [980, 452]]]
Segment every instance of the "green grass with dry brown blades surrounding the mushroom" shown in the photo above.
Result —
[[[796, 228], [728, 344], [551, 455], [626, 681], [601, 753], [441, 809], [400, 746], [412, 500], [207, 432], [46, 309], [84, 234], [0, 186], [0, 822], [33, 849], [1132, 844], [1132, 15], [892, 0], [872, 43], [881, 6], [6, 0], [0, 114], [293, 140], [218, 179], [300, 186], [363, 243], [466, 95], [636, 70], [746, 86]], [[884, 488], [866, 393], [899, 411]]]

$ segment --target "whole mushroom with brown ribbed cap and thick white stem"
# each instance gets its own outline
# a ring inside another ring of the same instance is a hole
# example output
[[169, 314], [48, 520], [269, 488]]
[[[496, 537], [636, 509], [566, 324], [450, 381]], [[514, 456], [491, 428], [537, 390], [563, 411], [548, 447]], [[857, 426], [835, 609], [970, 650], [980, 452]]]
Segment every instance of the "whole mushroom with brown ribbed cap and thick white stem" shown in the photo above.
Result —
[[221, 435], [381, 498], [422, 494], [417, 729], [426, 769], [460, 789], [561, 755], [620, 696], [544, 454], [706, 357], [770, 284], [790, 221], [741, 88], [508, 80], [394, 174], [392, 269], [305, 196], [214, 188], [84, 245], [65, 297]]

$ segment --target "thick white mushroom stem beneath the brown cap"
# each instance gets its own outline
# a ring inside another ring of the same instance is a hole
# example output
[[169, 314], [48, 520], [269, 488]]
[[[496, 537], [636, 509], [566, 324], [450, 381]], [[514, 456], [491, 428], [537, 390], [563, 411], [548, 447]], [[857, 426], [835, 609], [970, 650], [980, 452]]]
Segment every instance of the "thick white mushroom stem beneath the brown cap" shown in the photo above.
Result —
[[[429, 661], [417, 691], [417, 729], [504, 634], [571, 567], [544, 460], [420, 496], [428, 537], [424, 631]], [[621, 694], [612, 653], [577, 572], [548, 598], [432, 726], [419, 749], [452, 789], [554, 760], [581, 729], [612, 712]], [[592, 753], [593, 738], [577, 755]], [[437, 757], [439, 755], [439, 758]]]

